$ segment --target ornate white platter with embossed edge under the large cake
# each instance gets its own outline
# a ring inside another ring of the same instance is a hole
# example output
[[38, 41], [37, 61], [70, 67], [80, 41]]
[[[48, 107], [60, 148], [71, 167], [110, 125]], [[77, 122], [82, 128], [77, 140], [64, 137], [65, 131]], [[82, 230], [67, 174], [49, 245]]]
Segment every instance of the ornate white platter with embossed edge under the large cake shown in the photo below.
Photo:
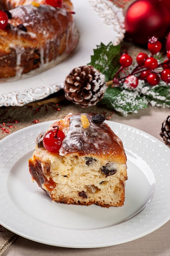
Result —
[[80, 32], [75, 51], [65, 61], [41, 74], [0, 83], [0, 106], [23, 106], [43, 99], [62, 88], [74, 67], [91, 62], [96, 45], [110, 41], [118, 45], [124, 38], [124, 16], [121, 8], [108, 0], [73, 0], [75, 23]]

